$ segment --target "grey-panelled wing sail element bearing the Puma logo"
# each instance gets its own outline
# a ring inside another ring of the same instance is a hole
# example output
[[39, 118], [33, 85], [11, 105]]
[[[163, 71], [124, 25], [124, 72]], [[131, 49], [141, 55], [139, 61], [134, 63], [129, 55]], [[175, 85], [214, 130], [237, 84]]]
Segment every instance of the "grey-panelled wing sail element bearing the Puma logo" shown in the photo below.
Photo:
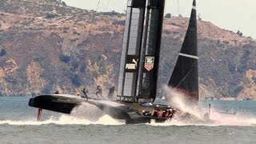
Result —
[[118, 79], [119, 98], [136, 94], [145, 9], [146, 0], [128, 0]]

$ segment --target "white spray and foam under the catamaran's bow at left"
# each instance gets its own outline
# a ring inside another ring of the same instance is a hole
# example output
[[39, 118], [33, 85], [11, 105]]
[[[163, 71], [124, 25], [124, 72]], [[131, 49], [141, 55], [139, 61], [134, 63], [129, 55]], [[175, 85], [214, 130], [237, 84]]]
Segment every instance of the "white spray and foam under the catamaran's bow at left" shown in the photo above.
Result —
[[50, 116], [44, 119], [44, 114], [47, 110], [42, 111], [42, 121], [37, 122], [36, 115], [34, 118], [27, 120], [0, 120], [0, 125], [14, 125], [14, 126], [40, 126], [48, 124], [56, 125], [122, 125], [125, 122], [111, 118], [109, 115], [104, 114], [96, 106], [90, 104], [82, 104], [74, 108], [70, 115], [62, 114], [58, 117]]

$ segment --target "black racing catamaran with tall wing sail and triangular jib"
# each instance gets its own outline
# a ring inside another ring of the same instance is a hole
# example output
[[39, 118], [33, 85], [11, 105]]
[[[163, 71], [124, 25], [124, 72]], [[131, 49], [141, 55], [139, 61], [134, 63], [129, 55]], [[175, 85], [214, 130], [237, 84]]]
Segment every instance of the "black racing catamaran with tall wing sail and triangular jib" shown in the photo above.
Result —
[[[30, 98], [29, 106], [70, 114], [76, 106], [89, 103], [126, 123], [165, 122], [170, 118], [143, 114], [154, 106], [142, 104], [154, 102], [158, 90], [158, 66], [161, 50], [162, 23], [165, 0], [128, 0], [126, 26], [122, 43], [122, 56], [116, 100], [80, 98], [73, 94], [43, 94]], [[190, 23], [178, 61], [168, 83], [191, 102], [198, 96], [198, 51], [196, 1], [193, 1]], [[111, 89], [113, 94], [113, 89]], [[163, 106], [167, 107], [167, 106]]]

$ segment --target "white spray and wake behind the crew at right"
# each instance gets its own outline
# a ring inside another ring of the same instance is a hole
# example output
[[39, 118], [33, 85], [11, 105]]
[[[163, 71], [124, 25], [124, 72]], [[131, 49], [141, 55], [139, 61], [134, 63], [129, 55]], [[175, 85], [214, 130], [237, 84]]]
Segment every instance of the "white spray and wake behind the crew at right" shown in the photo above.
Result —
[[[204, 114], [209, 112], [208, 107], [201, 109], [195, 108], [186, 104], [186, 98], [184, 95], [179, 94], [177, 91], [170, 90], [168, 86], [164, 86], [166, 101], [171, 103], [172, 107], [182, 110], [186, 113], [193, 114], [197, 118], [204, 121]], [[256, 117], [253, 114], [245, 114], [243, 111], [236, 111], [236, 114], [223, 114], [219, 111], [226, 110], [216, 110], [214, 107], [210, 109], [210, 121], [204, 122], [183, 122], [178, 118], [173, 118], [169, 122], [165, 123], [155, 123], [151, 122], [150, 125], [153, 126], [256, 126]]]

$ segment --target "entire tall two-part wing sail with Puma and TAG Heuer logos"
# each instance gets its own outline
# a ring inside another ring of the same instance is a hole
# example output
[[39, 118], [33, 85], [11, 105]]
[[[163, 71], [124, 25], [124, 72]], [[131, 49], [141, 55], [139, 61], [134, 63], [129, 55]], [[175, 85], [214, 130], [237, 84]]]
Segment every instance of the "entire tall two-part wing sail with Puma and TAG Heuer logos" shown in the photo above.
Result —
[[154, 100], [165, 0], [129, 0], [122, 58], [118, 79], [118, 100]]

